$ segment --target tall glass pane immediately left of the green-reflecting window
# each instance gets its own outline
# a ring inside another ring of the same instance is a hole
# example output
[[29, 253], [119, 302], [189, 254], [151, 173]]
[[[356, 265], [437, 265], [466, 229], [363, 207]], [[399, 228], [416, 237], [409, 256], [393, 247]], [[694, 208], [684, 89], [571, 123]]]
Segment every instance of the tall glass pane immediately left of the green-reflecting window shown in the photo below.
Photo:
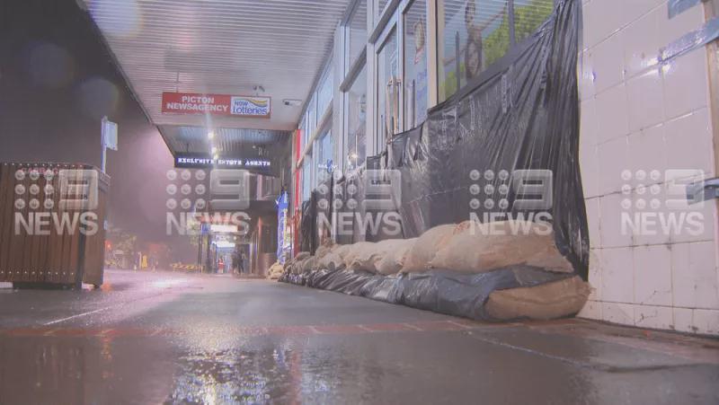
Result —
[[404, 13], [404, 129], [427, 118], [427, 2], [414, 0]]

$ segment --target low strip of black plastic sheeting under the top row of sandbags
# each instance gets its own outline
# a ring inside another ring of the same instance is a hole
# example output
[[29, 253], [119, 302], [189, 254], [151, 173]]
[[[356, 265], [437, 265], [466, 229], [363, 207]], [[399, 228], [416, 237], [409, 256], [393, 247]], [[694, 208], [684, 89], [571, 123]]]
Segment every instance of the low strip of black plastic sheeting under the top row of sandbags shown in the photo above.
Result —
[[285, 274], [280, 281], [477, 321], [498, 321], [484, 309], [493, 291], [540, 286], [567, 277], [573, 275], [515, 266], [482, 274], [432, 270], [390, 277], [362, 271], [323, 269], [302, 275]]

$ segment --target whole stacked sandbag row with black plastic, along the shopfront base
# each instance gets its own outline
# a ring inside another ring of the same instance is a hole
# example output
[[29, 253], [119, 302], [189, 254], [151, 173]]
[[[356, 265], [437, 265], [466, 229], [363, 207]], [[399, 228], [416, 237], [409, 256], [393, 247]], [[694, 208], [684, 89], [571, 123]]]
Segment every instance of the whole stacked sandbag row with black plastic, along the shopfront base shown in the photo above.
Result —
[[573, 274], [550, 227], [493, 223], [487, 233], [478, 226], [484, 225], [440, 225], [410, 240], [324, 245], [315, 256], [297, 255], [280, 280], [496, 321], [581, 310], [590, 287]]

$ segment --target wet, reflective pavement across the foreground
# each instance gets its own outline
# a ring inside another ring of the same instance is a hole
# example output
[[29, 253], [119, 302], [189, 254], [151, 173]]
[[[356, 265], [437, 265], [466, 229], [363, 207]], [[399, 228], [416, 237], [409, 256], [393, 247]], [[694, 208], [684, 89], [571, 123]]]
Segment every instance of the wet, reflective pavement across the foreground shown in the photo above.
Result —
[[461, 320], [299, 286], [0, 284], [0, 403], [719, 403], [719, 340]]

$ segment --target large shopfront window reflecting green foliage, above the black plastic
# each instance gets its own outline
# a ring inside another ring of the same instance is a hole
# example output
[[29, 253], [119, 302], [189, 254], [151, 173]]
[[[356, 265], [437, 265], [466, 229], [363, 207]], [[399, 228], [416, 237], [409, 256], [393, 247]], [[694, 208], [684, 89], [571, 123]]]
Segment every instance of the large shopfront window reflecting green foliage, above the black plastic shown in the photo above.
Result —
[[439, 0], [439, 101], [510, 49], [509, 0]]

